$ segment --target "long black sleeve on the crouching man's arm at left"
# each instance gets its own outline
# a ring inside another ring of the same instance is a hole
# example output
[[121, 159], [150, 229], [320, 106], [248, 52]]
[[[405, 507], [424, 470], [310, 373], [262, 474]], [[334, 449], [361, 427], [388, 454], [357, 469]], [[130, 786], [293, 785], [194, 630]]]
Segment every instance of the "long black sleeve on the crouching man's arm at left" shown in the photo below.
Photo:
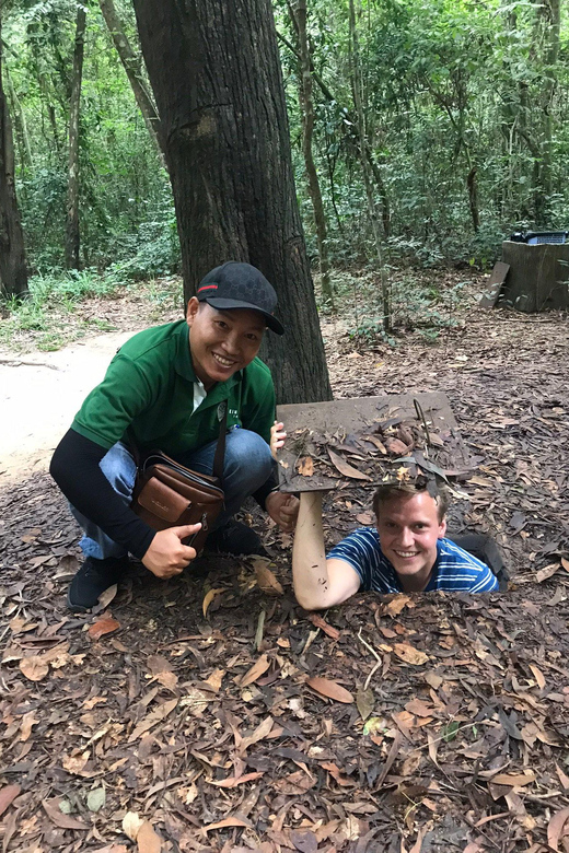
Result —
[[104, 447], [69, 430], [54, 453], [49, 472], [76, 510], [141, 560], [155, 530], [132, 512], [106, 479], [98, 465], [105, 453]]

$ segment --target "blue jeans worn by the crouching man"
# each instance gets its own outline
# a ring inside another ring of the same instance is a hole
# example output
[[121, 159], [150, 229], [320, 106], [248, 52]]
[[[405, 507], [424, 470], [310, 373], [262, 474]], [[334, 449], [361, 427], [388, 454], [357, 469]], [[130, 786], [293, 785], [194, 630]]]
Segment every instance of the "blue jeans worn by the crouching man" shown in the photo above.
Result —
[[[217, 442], [206, 444], [199, 451], [187, 454], [178, 461], [201, 474], [212, 474]], [[137, 466], [121, 442], [113, 445], [101, 459], [101, 470], [111, 486], [126, 504], [132, 500]], [[272, 470], [269, 445], [249, 430], [233, 429], [227, 435], [225, 460], [223, 465], [223, 490], [225, 505], [213, 525], [222, 527], [234, 515], [246, 498], [260, 489]], [[80, 541], [85, 557], [104, 560], [107, 557], [126, 557], [124, 546], [113, 541], [101, 527], [81, 515], [73, 506], [71, 512], [81, 525], [84, 536]]]

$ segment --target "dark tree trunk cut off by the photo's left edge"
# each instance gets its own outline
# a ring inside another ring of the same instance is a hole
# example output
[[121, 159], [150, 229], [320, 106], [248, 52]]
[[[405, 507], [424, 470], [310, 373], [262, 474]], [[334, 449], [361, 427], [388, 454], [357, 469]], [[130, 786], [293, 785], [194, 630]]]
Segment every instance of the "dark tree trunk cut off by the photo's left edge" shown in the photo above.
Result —
[[27, 294], [24, 234], [14, 185], [14, 142], [2, 84], [2, 21], [0, 14], [0, 293]]

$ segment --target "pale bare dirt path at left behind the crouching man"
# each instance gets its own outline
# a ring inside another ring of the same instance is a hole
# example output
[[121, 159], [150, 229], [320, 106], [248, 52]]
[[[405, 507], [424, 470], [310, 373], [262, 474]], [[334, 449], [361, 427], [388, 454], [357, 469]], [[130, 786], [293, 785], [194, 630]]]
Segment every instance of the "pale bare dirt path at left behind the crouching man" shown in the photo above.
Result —
[[0, 488], [45, 471], [85, 395], [132, 331], [0, 360]]

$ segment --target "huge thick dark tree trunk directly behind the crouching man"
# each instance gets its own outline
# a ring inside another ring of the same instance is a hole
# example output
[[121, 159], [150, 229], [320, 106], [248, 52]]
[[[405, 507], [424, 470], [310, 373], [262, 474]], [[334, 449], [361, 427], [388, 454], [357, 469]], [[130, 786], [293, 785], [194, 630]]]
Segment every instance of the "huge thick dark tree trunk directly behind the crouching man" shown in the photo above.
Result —
[[266, 336], [279, 402], [330, 399], [297, 206], [270, 0], [135, 0], [162, 122], [185, 295], [244, 260], [275, 285], [287, 327]]

